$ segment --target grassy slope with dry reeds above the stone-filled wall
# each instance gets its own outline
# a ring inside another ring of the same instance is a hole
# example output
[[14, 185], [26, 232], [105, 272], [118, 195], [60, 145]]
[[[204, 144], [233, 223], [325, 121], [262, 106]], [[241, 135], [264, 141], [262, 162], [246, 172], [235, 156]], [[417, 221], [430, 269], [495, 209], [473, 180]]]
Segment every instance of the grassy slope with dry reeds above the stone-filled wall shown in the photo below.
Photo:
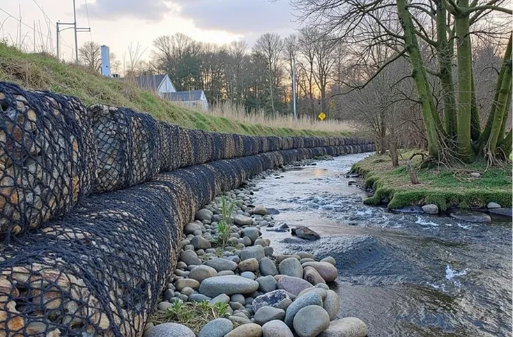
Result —
[[[0, 81], [12, 81], [33, 90], [49, 90], [78, 97], [84, 104], [104, 103], [129, 107], [154, 118], [191, 129], [276, 136], [346, 136], [344, 123], [245, 116], [229, 104], [202, 113], [171, 104], [140, 90], [128, 81], [107, 79], [83, 67], [61, 63], [43, 54], [26, 54], [0, 43]], [[220, 116], [215, 116], [215, 115]]]

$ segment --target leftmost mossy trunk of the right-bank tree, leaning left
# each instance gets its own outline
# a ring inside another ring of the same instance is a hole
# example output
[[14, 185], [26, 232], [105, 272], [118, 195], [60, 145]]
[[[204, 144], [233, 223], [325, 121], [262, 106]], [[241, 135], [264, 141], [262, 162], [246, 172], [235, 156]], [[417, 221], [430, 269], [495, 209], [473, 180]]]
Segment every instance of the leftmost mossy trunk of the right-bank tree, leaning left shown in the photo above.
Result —
[[413, 79], [415, 79], [415, 86], [420, 98], [420, 108], [422, 110], [422, 116], [424, 117], [424, 124], [426, 126], [427, 147], [429, 150], [429, 155], [435, 159], [440, 159], [441, 142], [438, 138], [438, 123], [434, 116], [435, 114], [438, 116], [438, 112], [433, 111], [433, 96], [429, 90], [426, 70], [424, 69], [424, 64], [420, 55], [417, 36], [415, 36], [415, 27], [413, 26], [411, 15], [407, 9], [407, 0], [396, 1], [397, 15], [399, 16], [401, 26], [404, 30], [404, 40], [406, 42], [406, 49], [408, 50], [408, 54], [410, 56], [410, 63], [413, 70]]

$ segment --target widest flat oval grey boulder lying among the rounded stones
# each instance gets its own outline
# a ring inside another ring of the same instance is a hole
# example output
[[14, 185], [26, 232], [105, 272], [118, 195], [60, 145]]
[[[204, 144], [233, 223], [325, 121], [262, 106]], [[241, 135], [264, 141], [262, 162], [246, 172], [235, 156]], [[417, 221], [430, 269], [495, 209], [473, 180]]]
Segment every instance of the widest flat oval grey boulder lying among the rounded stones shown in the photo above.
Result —
[[241, 276], [227, 275], [215, 276], [206, 279], [199, 285], [199, 293], [208, 297], [216, 297], [220, 294], [252, 294], [257, 291], [259, 283]]

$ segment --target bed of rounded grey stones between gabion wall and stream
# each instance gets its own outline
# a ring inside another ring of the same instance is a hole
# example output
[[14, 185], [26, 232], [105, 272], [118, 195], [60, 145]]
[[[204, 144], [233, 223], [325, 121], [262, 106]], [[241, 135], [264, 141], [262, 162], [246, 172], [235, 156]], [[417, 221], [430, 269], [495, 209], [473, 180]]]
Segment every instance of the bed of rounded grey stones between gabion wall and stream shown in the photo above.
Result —
[[[253, 187], [252, 180], [245, 180], [224, 193], [227, 203], [235, 205], [224, 250], [216, 248], [221, 196], [185, 226], [176, 270], [156, 307], [163, 313], [176, 301], [222, 302], [229, 305], [225, 317], [211, 320], [197, 334], [178, 322], [149, 322], [144, 337], [365, 337], [362, 320], [337, 319], [341, 304], [329, 286], [338, 276], [335, 258], [319, 260], [305, 251], [275, 255], [270, 240], [261, 238], [263, 228], [289, 228], [277, 224], [263, 205], [253, 205]], [[313, 231], [305, 232], [312, 239]]]

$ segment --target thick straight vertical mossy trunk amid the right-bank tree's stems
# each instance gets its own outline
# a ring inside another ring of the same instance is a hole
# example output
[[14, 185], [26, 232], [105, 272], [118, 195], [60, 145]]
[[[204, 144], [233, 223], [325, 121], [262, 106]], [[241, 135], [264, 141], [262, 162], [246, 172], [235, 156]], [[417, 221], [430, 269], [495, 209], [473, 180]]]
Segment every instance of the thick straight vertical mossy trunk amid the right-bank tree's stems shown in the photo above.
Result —
[[470, 138], [470, 115], [472, 110], [472, 60], [470, 58], [470, 24], [468, 0], [460, 0], [459, 6], [464, 13], [456, 15], [454, 25], [457, 37], [458, 63], [458, 152], [464, 162], [470, 162], [473, 156]]

